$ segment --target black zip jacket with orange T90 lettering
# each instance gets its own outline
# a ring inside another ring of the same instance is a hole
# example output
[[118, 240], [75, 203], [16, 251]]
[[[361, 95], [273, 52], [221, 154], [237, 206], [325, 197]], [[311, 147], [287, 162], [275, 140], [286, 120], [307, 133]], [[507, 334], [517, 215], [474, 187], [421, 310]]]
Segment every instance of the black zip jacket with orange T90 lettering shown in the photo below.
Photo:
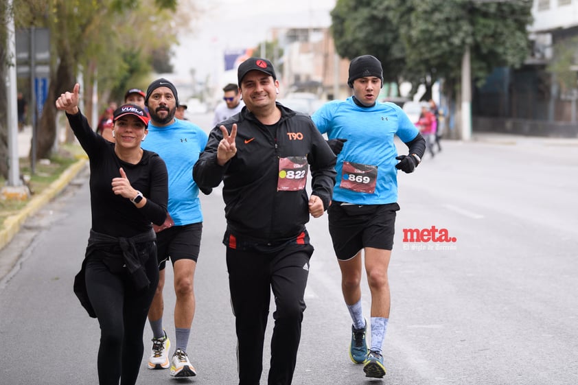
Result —
[[237, 124], [237, 154], [224, 166], [217, 164], [222, 132], [216, 126], [193, 167], [193, 178], [200, 187], [217, 187], [223, 181], [227, 231], [259, 243], [296, 237], [310, 218], [306, 187], [278, 191], [281, 176], [290, 174], [279, 170], [280, 159], [306, 158], [312, 194], [323, 200], [325, 210], [335, 184], [336, 156], [311, 118], [279, 103], [277, 107], [281, 119], [274, 128], [264, 126], [246, 107], [221, 122], [219, 126], [229, 132]]

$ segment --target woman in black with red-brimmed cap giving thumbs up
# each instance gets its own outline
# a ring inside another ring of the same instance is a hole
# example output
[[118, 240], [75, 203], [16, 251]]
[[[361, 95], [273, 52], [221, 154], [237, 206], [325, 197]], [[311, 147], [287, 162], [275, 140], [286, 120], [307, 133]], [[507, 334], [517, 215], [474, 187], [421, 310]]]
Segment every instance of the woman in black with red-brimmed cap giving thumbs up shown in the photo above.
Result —
[[135, 384], [143, 329], [159, 281], [152, 223], [167, 214], [168, 176], [161, 157], [141, 148], [148, 115], [135, 104], [113, 114], [115, 143], [97, 135], [78, 108], [77, 83], [56, 108], [66, 112], [90, 160], [92, 224], [74, 291], [100, 324], [99, 384]]

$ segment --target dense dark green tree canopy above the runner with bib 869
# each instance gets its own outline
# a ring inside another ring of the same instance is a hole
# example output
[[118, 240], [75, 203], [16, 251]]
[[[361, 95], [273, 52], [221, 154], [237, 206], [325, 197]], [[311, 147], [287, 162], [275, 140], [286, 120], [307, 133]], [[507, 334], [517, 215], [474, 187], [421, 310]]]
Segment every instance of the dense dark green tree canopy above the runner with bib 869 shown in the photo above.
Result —
[[332, 30], [341, 56], [373, 54], [389, 76], [426, 84], [429, 96], [438, 79], [459, 84], [466, 47], [477, 80], [494, 67], [521, 65], [529, 54], [531, 6], [531, 0], [338, 0]]

